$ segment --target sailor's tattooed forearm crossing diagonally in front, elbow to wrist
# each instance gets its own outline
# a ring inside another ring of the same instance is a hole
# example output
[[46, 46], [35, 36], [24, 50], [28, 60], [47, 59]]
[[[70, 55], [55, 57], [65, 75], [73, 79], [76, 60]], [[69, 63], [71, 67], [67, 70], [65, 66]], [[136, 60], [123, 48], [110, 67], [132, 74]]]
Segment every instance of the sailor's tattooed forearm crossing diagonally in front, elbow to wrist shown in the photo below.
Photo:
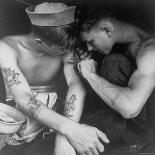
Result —
[[16, 103], [26, 115], [61, 134], [65, 135], [65, 126], [72, 124], [71, 120], [49, 109], [30, 93], [23, 94], [22, 98], [16, 100]]

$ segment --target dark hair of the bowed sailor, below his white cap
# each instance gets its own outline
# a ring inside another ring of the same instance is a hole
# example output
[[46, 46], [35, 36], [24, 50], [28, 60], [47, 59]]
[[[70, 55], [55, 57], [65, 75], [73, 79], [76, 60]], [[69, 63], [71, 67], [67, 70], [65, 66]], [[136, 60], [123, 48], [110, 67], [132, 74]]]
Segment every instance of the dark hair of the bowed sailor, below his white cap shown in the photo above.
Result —
[[75, 23], [62, 26], [36, 26], [31, 27], [34, 35], [39, 36], [49, 46], [55, 44], [66, 49], [75, 46], [77, 30]]

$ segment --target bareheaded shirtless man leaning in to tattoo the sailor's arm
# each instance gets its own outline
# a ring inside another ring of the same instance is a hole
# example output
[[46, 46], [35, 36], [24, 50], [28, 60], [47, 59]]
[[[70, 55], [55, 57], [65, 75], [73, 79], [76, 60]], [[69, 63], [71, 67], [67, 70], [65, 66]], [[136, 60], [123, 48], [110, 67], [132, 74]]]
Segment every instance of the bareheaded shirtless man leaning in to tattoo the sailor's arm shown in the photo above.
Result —
[[[155, 88], [155, 40], [141, 28], [118, 20], [115, 14], [111, 16], [111, 12], [99, 6], [88, 7], [85, 15], [86, 18], [82, 14], [79, 19], [81, 38], [89, 51], [105, 55], [101, 71], [104, 75], [97, 73], [93, 59], [80, 62], [79, 71], [103, 104], [123, 118], [133, 119]], [[118, 46], [126, 47], [119, 51], [124, 56], [111, 53]], [[133, 60], [130, 65], [136, 65], [129, 74], [126, 56]]]

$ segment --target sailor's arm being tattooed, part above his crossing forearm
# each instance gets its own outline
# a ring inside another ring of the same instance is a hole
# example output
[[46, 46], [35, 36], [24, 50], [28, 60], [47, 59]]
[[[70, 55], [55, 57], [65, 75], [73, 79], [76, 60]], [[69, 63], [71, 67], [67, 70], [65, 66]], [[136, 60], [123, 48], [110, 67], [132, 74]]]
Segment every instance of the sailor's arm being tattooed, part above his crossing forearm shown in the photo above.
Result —
[[74, 60], [75, 55], [73, 53], [69, 53], [64, 57], [64, 74], [68, 85], [64, 116], [78, 122], [83, 111], [86, 92], [79, 75], [74, 69]]

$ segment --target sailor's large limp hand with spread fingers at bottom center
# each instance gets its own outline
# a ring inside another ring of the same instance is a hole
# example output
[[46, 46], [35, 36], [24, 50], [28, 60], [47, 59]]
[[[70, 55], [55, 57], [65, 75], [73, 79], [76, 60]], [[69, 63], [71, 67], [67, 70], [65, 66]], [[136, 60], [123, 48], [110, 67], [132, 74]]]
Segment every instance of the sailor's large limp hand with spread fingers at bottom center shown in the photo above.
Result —
[[109, 143], [107, 136], [97, 128], [78, 123], [66, 127], [66, 136], [80, 155], [98, 155], [104, 151], [101, 141]]

